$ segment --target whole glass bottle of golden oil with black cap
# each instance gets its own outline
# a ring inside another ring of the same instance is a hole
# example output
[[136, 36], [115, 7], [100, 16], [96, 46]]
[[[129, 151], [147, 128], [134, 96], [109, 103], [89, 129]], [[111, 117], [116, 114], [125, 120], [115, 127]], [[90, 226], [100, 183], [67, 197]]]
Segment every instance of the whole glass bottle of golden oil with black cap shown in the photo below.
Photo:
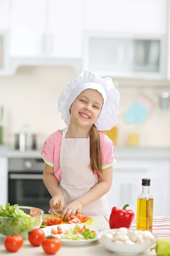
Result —
[[153, 197], [150, 195], [150, 179], [142, 179], [142, 193], [137, 199], [136, 229], [152, 232]]

